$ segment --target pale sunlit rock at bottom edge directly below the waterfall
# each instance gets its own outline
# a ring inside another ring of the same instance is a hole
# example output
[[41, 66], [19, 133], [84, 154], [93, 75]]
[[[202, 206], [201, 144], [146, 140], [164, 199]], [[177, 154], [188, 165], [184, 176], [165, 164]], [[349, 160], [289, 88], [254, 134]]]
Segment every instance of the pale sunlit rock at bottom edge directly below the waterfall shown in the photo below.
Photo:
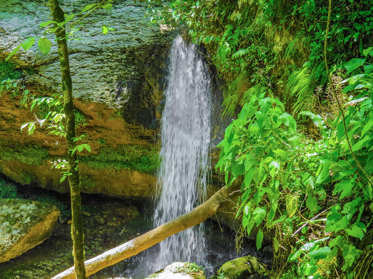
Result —
[[174, 262], [146, 279], [205, 279], [204, 270], [195, 263]]

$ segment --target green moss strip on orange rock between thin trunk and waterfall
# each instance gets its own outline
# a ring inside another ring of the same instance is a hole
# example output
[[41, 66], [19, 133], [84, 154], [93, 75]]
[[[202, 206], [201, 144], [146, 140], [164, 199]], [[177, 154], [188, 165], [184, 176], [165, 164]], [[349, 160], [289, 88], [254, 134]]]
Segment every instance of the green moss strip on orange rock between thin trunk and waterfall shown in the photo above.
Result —
[[158, 153], [156, 147], [124, 144], [117, 147], [100, 147], [98, 155], [79, 156], [79, 160], [95, 169], [114, 168], [150, 172], [159, 167]]

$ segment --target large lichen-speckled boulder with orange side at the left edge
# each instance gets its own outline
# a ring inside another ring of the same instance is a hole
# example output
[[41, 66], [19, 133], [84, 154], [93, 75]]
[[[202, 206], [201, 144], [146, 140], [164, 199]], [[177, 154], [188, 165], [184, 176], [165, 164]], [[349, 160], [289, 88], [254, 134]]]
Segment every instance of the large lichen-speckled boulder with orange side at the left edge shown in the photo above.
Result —
[[0, 263], [46, 240], [59, 214], [49, 203], [0, 199]]

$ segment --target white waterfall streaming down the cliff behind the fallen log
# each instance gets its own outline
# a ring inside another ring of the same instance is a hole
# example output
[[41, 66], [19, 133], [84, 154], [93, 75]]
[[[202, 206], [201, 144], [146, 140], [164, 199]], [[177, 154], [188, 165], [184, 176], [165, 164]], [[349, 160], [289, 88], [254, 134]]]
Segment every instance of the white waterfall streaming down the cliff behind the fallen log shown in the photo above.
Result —
[[[178, 36], [170, 53], [166, 104], [162, 115], [162, 163], [156, 226], [206, 199], [209, 174], [211, 93], [209, 75], [194, 44]], [[203, 263], [203, 225], [172, 235], [160, 243], [155, 269], [173, 261]]]

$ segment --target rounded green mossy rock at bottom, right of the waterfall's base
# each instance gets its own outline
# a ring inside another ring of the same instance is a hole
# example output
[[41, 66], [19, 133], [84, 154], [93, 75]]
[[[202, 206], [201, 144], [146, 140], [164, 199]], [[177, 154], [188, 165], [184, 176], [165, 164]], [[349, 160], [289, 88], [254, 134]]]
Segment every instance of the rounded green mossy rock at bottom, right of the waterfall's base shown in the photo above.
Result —
[[259, 270], [264, 269], [263, 264], [256, 257], [240, 257], [223, 264], [217, 271], [217, 275], [211, 279], [247, 279], [260, 278]]

